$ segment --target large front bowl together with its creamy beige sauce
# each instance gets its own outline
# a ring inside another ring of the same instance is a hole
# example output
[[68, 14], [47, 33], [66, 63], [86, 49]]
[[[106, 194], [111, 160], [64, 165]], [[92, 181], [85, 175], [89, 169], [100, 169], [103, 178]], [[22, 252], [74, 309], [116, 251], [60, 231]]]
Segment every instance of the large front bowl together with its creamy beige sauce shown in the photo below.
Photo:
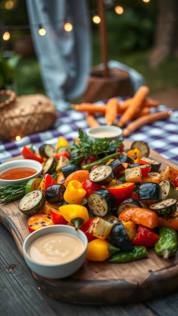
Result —
[[87, 237], [80, 229], [51, 225], [36, 230], [25, 239], [23, 256], [36, 274], [62, 279], [82, 266], [87, 245]]

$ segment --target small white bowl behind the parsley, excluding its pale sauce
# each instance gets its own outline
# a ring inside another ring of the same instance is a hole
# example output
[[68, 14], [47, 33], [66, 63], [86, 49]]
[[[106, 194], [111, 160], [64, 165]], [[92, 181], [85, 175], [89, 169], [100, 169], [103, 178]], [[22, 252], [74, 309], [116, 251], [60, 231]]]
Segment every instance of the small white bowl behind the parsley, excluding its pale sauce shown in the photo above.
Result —
[[[114, 133], [115, 136], [100, 137], [100, 136], [95, 135], [95, 133], [97, 132], [105, 132], [106, 134], [107, 132], [111, 132], [111, 133]], [[117, 126], [101, 125], [97, 127], [88, 128], [86, 131], [86, 134], [90, 137], [90, 139], [92, 139], [92, 141], [95, 141], [96, 138], [105, 138], [105, 137], [107, 137], [109, 141], [112, 141], [112, 140], [118, 140], [122, 137], [122, 129]]]

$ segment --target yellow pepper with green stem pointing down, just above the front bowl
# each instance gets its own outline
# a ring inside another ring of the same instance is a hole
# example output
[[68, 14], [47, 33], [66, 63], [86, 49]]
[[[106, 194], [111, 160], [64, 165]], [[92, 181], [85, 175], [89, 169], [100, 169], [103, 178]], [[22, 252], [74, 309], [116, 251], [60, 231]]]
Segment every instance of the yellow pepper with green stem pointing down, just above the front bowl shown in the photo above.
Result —
[[89, 220], [88, 211], [85, 206], [78, 204], [67, 204], [60, 206], [59, 210], [65, 220], [68, 223], [73, 224], [76, 229]]

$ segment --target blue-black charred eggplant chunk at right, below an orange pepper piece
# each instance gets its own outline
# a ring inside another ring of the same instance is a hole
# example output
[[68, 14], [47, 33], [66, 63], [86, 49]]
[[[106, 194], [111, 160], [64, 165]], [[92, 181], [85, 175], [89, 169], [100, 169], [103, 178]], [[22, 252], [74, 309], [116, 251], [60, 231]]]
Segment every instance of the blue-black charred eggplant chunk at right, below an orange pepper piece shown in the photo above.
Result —
[[139, 190], [140, 200], [162, 200], [162, 189], [154, 182], [143, 183]]

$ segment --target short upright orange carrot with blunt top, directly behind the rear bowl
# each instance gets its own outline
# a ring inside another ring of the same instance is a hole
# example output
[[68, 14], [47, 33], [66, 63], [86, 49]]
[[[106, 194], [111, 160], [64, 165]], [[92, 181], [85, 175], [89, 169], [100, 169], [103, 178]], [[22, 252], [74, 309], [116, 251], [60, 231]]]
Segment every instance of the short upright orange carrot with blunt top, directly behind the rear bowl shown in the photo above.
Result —
[[107, 125], [113, 125], [117, 118], [119, 101], [116, 98], [111, 98], [106, 104], [105, 120]]

